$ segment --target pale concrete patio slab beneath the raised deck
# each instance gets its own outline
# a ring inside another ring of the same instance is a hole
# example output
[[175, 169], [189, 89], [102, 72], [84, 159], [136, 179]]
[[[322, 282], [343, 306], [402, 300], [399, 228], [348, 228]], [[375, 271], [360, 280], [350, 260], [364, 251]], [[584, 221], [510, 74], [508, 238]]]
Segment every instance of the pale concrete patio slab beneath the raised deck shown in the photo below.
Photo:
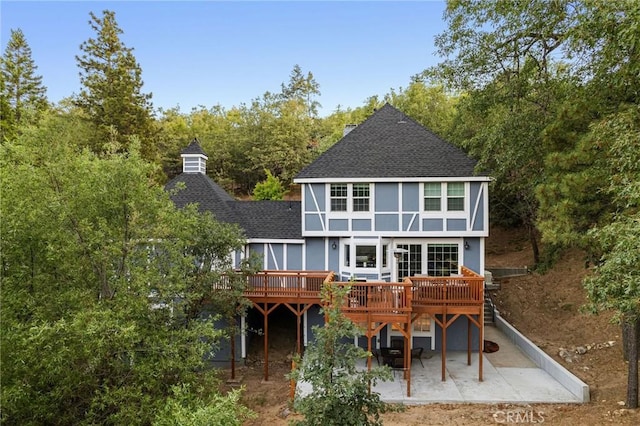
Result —
[[[485, 338], [497, 343], [500, 349], [491, 354], [483, 354], [484, 380], [482, 382], [478, 381], [477, 353], [472, 354], [471, 365], [467, 365], [466, 352], [447, 353], [446, 381], [443, 382], [441, 381], [440, 352], [428, 352], [422, 357], [424, 367], [417, 360], [412, 363], [410, 397], [407, 397], [407, 382], [403, 379], [402, 371], [394, 371], [393, 381], [380, 382], [372, 390], [378, 392], [383, 401], [414, 405], [428, 403], [583, 403], [588, 401], [586, 384], [559, 365], [554, 365], [555, 370], [549, 370], [553, 374], [565, 376], [553, 377], [525, 355], [501, 328], [486, 326]], [[545, 361], [555, 362], [546, 359]], [[361, 367], [366, 368], [364, 361]], [[564, 371], [557, 370], [558, 367]], [[560, 373], [558, 373], [559, 371]], [[569, 380], [586, 387], [586, 397], [584, 387], [574, 387], [573, 390], [569, 390], [561, 384], [561, 382], [566, 382], [567, 377]], [[311, 391], [306, 383], [299, 383], [298, 386], [303, 394]]]

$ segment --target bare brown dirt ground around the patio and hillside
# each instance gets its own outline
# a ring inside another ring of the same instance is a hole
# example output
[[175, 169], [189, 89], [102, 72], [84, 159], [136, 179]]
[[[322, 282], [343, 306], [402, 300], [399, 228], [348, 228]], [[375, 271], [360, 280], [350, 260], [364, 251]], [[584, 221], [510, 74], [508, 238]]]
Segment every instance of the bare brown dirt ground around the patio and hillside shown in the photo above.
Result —
[[[513, 231], [492, 229], [486, 255], [487, 266], [521, 267], [533, 263], [526, 236]], [[503, 280], [500, 290], [492, 291], [492, 295], [507, 321], [589, 385], [591, 402], [409, 406], [404, 412], [385, 414], [384, 424], [640, 424], [640, 410], [624, 406], [627, 365], [622, 358], [619, 327], [611, 324], [610, 315], [595, 316], [581, 310], [586, 302], [581, 279], [586, 273], [582, 254], [570, 252], [547, 274], [531, 273]], [[287, 338], [277, 330], [270, 330], [269, 334], [271, 339], [276, 336], [274, 348], [292, 348], [295, 344], [295, 340], [277, 341]], [[577, 351], [584, 353], [579, 355]], [[291, 366], [290, 352], [270, 352], [269, 382], [262, 380], [261, 352], [250, 351], [247, 365], [238, 370], [245, 386], [243, 401], [259, 415], [247, 426], [287, 425], [290, 420], [300, 418], [290, 411], [288, 404], [290, 387], [285, 375]]]

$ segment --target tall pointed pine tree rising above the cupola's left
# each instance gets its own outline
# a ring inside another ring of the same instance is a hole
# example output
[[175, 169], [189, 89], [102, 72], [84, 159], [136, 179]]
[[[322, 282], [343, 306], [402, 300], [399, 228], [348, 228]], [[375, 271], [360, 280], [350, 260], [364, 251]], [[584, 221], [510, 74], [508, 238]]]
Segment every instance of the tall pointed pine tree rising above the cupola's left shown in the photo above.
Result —
[[128, 48], [120, 40], [123, 31], [115, 13], [105, 10], [102, 18], [90, 13], [89, 25], [96, 32], [80, 45], [76, 56], [80, 68], [82, 89], [76, 105], [82, 108], [98, 129], [94, 149], [109, 141], [115, 133], [122, 149], [128, 147], [129, 138], [141, 139], [142, 155], [153, 157], [151, 94], [142, 92], [142, 69]]

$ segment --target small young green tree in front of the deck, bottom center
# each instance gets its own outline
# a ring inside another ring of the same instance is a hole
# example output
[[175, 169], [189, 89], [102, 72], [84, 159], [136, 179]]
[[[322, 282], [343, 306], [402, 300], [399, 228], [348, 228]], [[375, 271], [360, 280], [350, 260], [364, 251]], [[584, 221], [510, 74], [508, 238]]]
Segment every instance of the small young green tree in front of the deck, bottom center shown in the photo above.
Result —
[[315, 341], [290, 375], [312, 387], [308, 395], [297, 395], [295, 408], [305, 416], [297, 425], [381, 425], [380, 414], [390, 409], [370, 391], [378, 380], [391, 379], [388, 367], [356, 368], [356, 361], [371, 353], [353, 344], [360, 330], [342, 314], [340, 301], [347, 292], [336, 283], [323, 286], [325, 324], [313, 328]]

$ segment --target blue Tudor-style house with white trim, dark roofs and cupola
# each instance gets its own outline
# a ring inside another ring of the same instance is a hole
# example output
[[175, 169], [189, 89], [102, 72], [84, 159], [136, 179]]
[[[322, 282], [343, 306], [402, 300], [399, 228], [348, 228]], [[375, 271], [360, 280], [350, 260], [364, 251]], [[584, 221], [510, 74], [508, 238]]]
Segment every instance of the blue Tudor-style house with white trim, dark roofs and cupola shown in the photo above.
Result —
[[[279, 280], [265, 284], [264, 294], [249, 294], [265, 331], [270, 312], [285, 305], [296, 317], [299, 345], [308, 344], [311, 327], [323, 322], [309, 291], [332, 272], [335, 281], [353, 282], [347, 311], [367, 331], [355, 343], [373, 349], [397, 338], [409, 349], [481, 347], [489, 178], [476, 174], [475, 161], [458, 147], [386, 104], [300, 171], [299, 202], [236, 201], [206, 176], [207, 156], [196, 141], [182, 157], [183, 173], [167, 185], [186, 186], [173, 196], [176, 205], [198, 203], [239, 224], [247, 237], [240, 255], [258, 253], [264, 282]], [[394, 306], [373, 308], [371, 296], [384, 298], [380, 291], [395, 294]], [[265, 356], [267, 350], [265, 343]]]

